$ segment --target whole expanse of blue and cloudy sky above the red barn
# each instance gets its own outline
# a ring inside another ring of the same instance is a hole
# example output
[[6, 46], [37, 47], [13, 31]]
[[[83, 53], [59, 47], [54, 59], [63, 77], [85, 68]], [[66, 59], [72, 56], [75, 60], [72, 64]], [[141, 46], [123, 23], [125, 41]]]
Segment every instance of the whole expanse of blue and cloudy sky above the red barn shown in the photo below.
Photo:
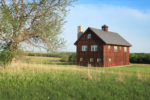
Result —
[[78, 0], [66, 18], [61, 37], [66, 40], [62, 51], [75, 52], [77, 26], [117, 32], [132, 44], [132, 53], [150, 53], [150, 0]]

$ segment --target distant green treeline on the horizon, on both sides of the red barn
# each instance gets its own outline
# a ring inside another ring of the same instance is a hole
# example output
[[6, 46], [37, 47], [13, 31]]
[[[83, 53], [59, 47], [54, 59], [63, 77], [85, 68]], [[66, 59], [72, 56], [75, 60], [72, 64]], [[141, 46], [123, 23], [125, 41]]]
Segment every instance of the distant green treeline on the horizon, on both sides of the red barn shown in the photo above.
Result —
[[[61, 53], [24, 53], [27, 56], [42, 56], [42, 57], [60, 57], [62, 62], [76, 63], [75, 52], [61, 52]], [[130, 53], [131, 63], [150, 64], [150, 53]]]

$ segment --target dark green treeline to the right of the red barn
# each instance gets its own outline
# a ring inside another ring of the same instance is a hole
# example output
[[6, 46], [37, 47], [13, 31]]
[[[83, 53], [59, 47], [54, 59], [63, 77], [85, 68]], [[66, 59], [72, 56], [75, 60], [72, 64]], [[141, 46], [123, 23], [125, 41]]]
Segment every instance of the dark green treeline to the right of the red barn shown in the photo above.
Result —
[[131, 53], [130, 62], [150, 64], [150, 53]]

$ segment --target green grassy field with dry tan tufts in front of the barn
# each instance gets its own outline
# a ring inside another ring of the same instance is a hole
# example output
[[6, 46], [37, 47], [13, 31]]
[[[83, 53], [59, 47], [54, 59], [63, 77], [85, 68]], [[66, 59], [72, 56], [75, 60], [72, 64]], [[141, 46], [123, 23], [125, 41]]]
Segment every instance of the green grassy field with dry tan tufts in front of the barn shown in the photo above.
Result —
[[25, 57], [0, 67], [0, 100], [150, 100], [150, 65], [95, 68], [59, 60]]

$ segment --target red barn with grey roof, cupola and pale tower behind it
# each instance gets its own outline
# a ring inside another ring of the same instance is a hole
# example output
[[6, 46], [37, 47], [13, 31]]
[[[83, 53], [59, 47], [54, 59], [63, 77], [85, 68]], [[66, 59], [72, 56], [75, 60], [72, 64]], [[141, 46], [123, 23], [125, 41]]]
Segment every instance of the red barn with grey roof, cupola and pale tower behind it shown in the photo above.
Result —
[[108, 26], [102, 29], [89, 27], [83, 32], [78, 27], [77, 65], [110, 67], [129, 64], [129, 49], [131, 44], [118, 33], [108, 31]]

